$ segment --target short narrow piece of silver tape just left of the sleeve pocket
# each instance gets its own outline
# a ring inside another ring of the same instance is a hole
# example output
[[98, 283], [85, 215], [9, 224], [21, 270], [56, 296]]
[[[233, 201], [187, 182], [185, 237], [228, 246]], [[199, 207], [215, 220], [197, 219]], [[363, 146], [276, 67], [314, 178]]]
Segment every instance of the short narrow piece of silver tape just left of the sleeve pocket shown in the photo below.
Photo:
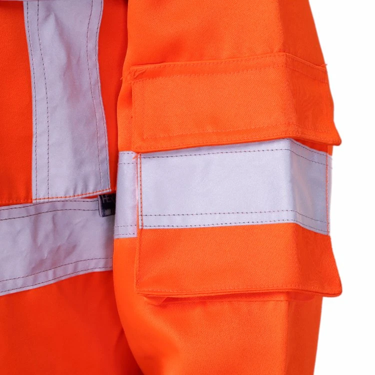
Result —
[[[135, 237], [137, 216], [137, 160], [134, 152], [118, 155], [114, 236]], [[117, 213], [118, 212], [118, 213]]]

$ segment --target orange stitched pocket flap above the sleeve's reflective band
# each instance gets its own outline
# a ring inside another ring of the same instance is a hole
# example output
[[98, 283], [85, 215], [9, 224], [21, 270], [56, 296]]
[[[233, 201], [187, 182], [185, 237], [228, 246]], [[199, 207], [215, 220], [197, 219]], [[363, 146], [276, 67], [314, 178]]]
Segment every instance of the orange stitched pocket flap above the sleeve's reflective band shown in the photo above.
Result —
[[129, 80], [136, 152], [288, 136], [340, 143], [325, 68], [286, 53], [140, 65]]

